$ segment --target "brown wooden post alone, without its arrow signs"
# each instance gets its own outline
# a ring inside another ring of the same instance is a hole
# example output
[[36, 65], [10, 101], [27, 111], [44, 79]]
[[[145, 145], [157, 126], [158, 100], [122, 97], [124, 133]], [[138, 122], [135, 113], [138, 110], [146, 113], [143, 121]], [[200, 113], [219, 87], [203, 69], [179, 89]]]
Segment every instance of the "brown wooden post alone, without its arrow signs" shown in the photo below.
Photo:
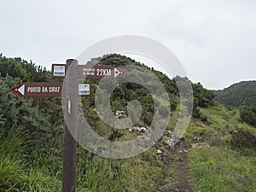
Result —
[[75, 192], [76, 190], [76, 163], [77, 163], [77, 103], [78, 87], [75, 68], [78, 61], [67, 60], [68, 73], [65, 84], [65, 113], [62, 192]]

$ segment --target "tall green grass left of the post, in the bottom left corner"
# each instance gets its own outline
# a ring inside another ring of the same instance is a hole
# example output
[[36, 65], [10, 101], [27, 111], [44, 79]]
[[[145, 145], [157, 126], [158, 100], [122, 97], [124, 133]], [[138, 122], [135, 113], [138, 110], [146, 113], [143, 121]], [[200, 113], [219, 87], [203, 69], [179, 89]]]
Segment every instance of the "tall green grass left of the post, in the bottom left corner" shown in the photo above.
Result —
[[48, 169], [27, 160], [26, 138], [26, 132], [14, 127], [0, 141], [0, 192], [60, 191], [60, 176], [50, 176]]

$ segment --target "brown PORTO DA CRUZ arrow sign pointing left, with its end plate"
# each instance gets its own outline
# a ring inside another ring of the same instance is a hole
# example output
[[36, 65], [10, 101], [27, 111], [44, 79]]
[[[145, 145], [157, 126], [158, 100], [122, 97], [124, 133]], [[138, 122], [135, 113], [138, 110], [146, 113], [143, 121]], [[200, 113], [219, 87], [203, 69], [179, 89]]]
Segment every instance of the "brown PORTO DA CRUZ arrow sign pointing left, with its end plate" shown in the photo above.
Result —
[[[11, 90], [25, 97], [61, 97], [61, 82], [26, 82]], [[90, 83], [79, 84], [79, 96], [90, 96]]]

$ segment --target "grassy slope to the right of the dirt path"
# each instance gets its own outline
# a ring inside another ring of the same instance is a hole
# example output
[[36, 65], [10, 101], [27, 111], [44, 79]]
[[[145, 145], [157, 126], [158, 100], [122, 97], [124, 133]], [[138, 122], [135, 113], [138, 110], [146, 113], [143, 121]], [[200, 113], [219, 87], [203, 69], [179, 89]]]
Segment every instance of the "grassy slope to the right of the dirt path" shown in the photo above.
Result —
[[256, 129], [241, 123], [236, 109], [217, 105], [202, 113], [207, 125], [193, 120], [187, 133], [199, 138], [189, 149], [191, 183], [198, 191], [254, 191]]

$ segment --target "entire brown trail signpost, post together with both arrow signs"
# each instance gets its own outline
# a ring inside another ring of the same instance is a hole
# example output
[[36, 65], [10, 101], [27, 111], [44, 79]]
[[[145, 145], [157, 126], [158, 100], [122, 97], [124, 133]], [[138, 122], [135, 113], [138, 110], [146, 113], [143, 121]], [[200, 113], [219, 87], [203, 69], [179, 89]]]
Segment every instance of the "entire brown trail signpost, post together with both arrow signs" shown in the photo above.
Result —
[[24, 97], [65, 97], [65, 113], [68, 114], [67, 120], [70, 122], [72, 126], [70, 128], [72, 129], [67, 128], [67, 122], [65, 121], [61, 191], [75, 192], [77, 99], [78, 96], [90, 96], [91, 94], [91, 84], [79, 84], [78, 79], [115, 79], [125, 72], [113, 66], [78, 65], [77, 60], [69, 59], [66, 64], [52, 64], [51, 73], [52, 78], [66, 78], [67, 84], [65, 82], [26, 82], [15, 86], [11, 90]]

